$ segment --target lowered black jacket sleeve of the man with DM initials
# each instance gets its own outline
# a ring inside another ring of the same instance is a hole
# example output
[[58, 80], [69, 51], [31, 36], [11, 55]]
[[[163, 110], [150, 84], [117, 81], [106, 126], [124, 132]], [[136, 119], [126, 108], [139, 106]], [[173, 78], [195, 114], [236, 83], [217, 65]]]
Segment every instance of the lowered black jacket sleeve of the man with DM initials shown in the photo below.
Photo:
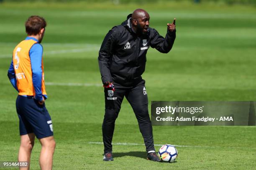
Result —
[[104, 85], [109, 84], [113, 81], [109, 70], [109, 62], [112, 52], [114, 50], [114, 45], [117, 39], [116, 37], [118, 36], [117, 34], [118, 31], [116, 28], [110, 30], [108, 34], [105, 36], [100, 47], [98, 62], [100, 67], [102, 83]]

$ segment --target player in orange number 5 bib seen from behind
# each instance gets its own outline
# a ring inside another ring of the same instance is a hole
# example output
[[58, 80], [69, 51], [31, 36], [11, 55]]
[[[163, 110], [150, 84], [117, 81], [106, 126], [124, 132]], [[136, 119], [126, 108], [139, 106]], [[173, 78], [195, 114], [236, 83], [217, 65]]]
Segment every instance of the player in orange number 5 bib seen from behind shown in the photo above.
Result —
[[[41, 170], [51, 170], [55, 141], [51, 117], [45, 107], [47, 98], [44, 85], [43, 47], [46, 21], [39, 16], [31, 16], [26, 21], [28, 36], [13, 50], [13, 60], [8, 77], [18, 91], [16, 110], [19, 117], [20, 149], [18, 161], [30, 163], [35, 136], [41, 143]], [[20, 169], [29, 169], [28, 167]]]

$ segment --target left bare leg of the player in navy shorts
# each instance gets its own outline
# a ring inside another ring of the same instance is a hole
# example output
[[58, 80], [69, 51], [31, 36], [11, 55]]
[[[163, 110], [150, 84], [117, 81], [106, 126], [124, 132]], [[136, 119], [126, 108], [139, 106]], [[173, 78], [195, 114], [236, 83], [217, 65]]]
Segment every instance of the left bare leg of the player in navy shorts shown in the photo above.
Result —
[[35, 134], [29, 133], [20, 136], [20, 150], [18, 154], [18, 161], [28, 162], [28, 167], [20, 168], [20, 170], [29, 170], [30, 156], [34, 146]]

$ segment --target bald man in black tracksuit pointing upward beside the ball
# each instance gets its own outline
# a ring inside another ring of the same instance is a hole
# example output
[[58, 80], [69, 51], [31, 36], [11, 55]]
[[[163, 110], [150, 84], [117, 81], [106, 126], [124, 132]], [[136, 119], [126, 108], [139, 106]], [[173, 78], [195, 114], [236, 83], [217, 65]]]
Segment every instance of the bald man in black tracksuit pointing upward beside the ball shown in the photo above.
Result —
[[125, 96], [131, 104], [144, 138], [148, 160], [160, 161], [155, 153], [152, 124], [148, 115], [145, 80], [146, 53], [149, 47], [167, 53], [176, 37], [175, 19], [167, 24], [165, 38], [149, 27], [149, 14], [137, 9], [121, 25], [105, 36], [99, 51], [99, 67], [105, 91], [105, 116], [102, 124], [103, 160], [113, 160], [112, 137], [115, 119]]

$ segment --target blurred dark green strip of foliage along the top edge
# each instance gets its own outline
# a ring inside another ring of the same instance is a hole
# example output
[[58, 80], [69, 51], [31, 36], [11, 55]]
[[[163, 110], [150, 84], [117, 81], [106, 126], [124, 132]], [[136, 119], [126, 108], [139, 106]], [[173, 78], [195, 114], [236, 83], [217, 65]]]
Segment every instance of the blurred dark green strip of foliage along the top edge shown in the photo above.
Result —
[[241, 4], [241, 5], [256, 5], [256, 0], [0, 0], [0, 2], [112, 2], [113, 4], [125, 3], [151, 3], [151, 2], [171, 2], [171, 1], [187, 1], [194, 3], [225, 3], [228, 5]]

